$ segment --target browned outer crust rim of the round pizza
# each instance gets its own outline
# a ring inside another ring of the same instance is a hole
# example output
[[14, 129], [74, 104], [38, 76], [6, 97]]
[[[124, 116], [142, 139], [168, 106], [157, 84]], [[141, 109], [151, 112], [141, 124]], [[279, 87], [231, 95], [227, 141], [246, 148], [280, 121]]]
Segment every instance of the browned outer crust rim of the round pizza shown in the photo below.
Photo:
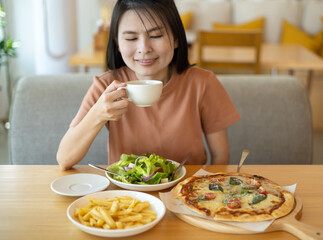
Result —
[[[208, 214], [206, 211], [203, 211], [203, 210], [197, 208], [196, 206], [192, 205], [192, 203], [190, 203], [190, 201], [188, 200], [189, 199], [188, 195], [185, 192], [184, 186], [186, 184], [190, 183], [191, 181], [194, 182], [196, 179], [199, 179], [199, 178], [211, 179], [214, 176], [220, 176], [220, 175], [226, 176], [226, 177], [234, 176], [234, 177], [237, 177], [240, 179], [245, 179], [245, 178], [250, 179], [250, 178], [255, 177], [254, 175], [250, 175], [250, 174], [246, 174], [246, 173], [217, 173], [214, 175], [193, 176], [193, 177], [189, 177], [189, 178], [185, 179], [184, 181], [177, 184], [177, 186], [174, 188], [174, 197], [179, 199], [190, 210], [192, 210], [202, 216], [210, 216], [210, 214]], [[259, 177], [259, 176], [256, 176], [256, 177]], [[272, 219], [280, 218], [282, 216], [287, 215], [289, 212], [291, 212], [291, 210], [294, 208], [294, 204], [295, 204], [295, 199], [294, 199], [293, 194], [284, 190], [281, 186], [279, 186], [278, 184], [276, 184], [275, 182], [273, 182], [269, 179], [262, 178], [262, 177], [259, 177], [259, 178], [261, 179], [261, 183], [263, 183], [266, 186], [270, 186], [275, 191], [280, 192], [282, 194], [282, 199], [285, 199], [285, 201], [277, 209], [271, 211], [271, 213], [268, 213], [265, 211], [263, 211], [264, 213], [261, 213], [261, 211], [260, 211], [260, 213], [258, 213], [258, 212], [253, 213], [252, 211], [248, 212], [246, 210], [246, 208], [245, 209], [242, 209], [242, 208], [229, 209], [229, 208], [223, 207], [223, 209], [221, 211], [218, 211], [214, 214], [213, 219], [214, 220], [221, 220], [221, 221], [258, 222], [258, 221], [265, 221], [265, 220], [272, 220]], [[221, 193], [219, 193], [219, 194], [221, 194]], [[276, 198], [278, 198], [278, 197], [276, 196]], [[273, 199], [268, 198], [266, 200], [267, 200], [268, 204], [270, 204], [271, 201], [274, 202]], [[264, 200], [264, 203], [265, 202], [266, 201]], [[259, 204], [259, 205], [261, 205], [261, 204]], [[245, 211], [245, 213], [243, 213], [243, 211]]]

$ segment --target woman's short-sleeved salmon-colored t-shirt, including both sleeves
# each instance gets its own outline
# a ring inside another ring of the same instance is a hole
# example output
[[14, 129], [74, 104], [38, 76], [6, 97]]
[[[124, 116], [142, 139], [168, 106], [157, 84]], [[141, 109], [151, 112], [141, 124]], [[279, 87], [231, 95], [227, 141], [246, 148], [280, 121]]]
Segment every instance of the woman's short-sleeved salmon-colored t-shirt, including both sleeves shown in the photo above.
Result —
[[[70, 126], [77, 125], [113, 81], [137, 80], [128, 67], [94, 77], [81, 107]], [[213, 72], [190, 67], [182, 74], [175, 69], [163, 87], [160, 99], [151, 107], [129, 103], [119, 121], [106, 124], [109, 130], [108, 163], [119, 161], [122, 153], [156, 153], [187, 164], [205, 164], [205, 134], [225, 129], [240, 119], [230, 97]]]

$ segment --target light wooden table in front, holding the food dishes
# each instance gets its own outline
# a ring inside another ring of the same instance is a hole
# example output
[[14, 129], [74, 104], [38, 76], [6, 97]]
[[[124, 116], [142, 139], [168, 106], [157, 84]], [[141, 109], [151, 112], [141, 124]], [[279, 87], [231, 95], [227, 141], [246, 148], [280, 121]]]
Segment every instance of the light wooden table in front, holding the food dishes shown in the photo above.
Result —
[[[186, 166], [191, 176], [203, 166]], [[236, 166], [204, 166], [212, 172], [231, 172]], [[0, 165], [0, 239], [102, 239], [82, 232], [67, 218], [67, 207], [77, 197], [58, 195], [50, 183], [58, 177], [90, 172], [103, 175], [89, 166], [61, 171], [58, 166]], [[323, 165], [245, 165], [242, 172], [268, 177], [281, 185], [297, 183], [296, 193], [303, 202], [301, 222], [323, 228]], [[111, 184], [107, 190], [119, 189]], [[167, 189], [165, 191], [169, 191]], [[158, 196], [158, 192], [148, 192]], [[322, 237], [322, 236], [321, 236]], [[126, 239], [297, 239], [287, 232], [234, 235], [193, 227], [172, 212], [151, 230]], [[120, 238], [118, 238], [120, 239]]]

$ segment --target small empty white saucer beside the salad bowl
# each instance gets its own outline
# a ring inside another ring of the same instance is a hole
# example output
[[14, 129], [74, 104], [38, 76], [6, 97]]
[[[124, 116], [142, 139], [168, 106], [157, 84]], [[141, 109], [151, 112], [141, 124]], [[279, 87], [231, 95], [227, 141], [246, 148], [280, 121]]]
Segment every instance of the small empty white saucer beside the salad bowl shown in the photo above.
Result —
[[67, 175], [54, 180], [50, 187], [60, 195], [84, 196], [86, 194], [99, 192], [106, 189], [110, 181], [101, 175], [78, 173]]

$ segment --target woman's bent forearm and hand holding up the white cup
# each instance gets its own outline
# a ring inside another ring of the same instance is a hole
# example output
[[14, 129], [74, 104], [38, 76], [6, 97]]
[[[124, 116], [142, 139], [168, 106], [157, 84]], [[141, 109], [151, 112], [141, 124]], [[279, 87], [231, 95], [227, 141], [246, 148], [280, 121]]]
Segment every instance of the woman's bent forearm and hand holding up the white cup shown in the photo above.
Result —
[[126, 83], [113, 81], [92, 106], [88, 114], [74, 127], [70, 127], [61, 140], [57, 162], [63, 170], [81, 161], [92, 142], [107, 121], [117, 121], [128, 110]]

